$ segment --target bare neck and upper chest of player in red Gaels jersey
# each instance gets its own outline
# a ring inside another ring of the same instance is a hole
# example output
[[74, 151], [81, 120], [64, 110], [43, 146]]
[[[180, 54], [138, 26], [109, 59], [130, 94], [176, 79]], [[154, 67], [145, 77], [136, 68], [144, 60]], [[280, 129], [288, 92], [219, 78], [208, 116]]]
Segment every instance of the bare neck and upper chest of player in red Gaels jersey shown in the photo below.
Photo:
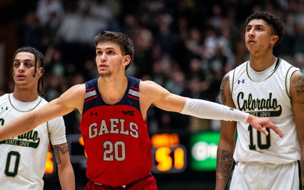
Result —
[[98, 78], [99, 93], [105, 103], [113, 105], [119, 102], [125, 95], [128, 85], [126, 76], [113, 78]]

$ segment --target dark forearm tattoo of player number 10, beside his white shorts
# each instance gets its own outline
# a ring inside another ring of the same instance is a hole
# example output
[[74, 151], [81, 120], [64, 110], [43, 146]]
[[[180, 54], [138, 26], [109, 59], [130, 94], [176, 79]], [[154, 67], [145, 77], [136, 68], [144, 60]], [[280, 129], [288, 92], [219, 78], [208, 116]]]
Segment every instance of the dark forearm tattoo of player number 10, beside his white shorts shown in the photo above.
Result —
[[232, 164], [233, 164], [233, 154], [231, 152], [223, 150], [220, 172], [222, 173], [222, 179], [226, 182], [228, 181]]

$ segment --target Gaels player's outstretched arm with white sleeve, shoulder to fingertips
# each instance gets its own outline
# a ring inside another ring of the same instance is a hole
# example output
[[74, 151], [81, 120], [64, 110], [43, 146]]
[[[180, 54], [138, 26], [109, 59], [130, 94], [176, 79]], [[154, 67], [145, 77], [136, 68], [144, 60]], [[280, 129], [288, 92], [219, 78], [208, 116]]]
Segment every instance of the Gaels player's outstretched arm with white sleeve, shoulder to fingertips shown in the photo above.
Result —
[[247, 122], [254, 129], [261, 131], [264, 135], [268, 135], [268, 132], [263, 127], [271, 128], [280, 137], [283, 137], [284, 135], [269, 119], [257, 118], [248, 113], [214, 102], [185, 98], [171, 94], [152, 81], [141, 81], [140, 89], [140, 94], [144, 94], [141, 96], [141, 98], [144, 98], [143, 104], [146, 105], [145, 109], [142, 109], [143, 112], [153, 104], [160, 109], [181, 112], [199, 118]]

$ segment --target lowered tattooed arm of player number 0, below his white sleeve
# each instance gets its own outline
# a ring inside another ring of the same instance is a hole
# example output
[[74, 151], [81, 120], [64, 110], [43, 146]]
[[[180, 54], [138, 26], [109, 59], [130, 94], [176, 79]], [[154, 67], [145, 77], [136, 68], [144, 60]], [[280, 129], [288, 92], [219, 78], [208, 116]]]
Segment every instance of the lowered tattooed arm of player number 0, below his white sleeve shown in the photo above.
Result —
[[70, 161], [67, 143], [53, 145], [61, 188], [63, 190], [75, 190], [75, 176]]

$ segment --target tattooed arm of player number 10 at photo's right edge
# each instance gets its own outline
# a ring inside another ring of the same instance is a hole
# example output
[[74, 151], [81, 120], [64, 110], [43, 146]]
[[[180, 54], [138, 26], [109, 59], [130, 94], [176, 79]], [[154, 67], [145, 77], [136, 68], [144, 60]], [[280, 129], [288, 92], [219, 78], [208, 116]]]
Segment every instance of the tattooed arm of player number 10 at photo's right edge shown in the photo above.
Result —
[[290, 96], [295, 126], [297, 128], [301, 148], [301, 179], [304, 187], [304, 76], [300, 71], [295, 71], [290, 78]]

